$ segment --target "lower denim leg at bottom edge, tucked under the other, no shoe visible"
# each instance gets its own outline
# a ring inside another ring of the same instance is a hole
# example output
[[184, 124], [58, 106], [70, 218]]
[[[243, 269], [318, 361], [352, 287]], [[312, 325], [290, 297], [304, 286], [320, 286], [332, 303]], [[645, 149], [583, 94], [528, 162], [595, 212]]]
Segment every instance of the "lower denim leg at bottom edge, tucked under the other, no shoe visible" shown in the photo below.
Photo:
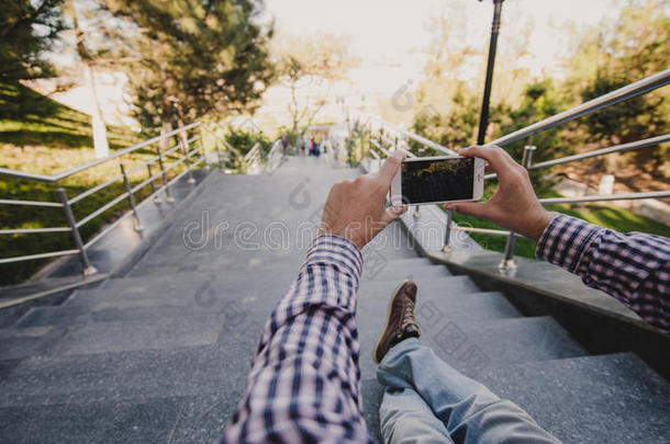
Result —
[[445, 424], [412, 388], [387, 387], [379, 406], [387, 444], [453, 444]]

